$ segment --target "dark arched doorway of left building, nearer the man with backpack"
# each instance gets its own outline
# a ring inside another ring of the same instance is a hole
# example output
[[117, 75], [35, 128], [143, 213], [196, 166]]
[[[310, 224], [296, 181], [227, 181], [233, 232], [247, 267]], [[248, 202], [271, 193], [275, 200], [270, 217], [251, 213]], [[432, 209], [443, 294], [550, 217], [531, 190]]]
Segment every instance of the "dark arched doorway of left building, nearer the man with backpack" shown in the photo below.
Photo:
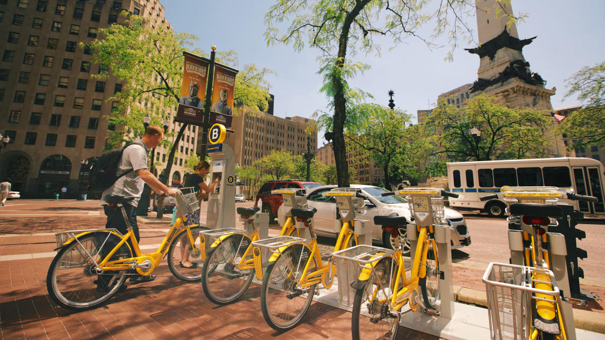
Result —
[[38, 194], [45, 197], [60, 192], [69, 185], [71, 161], [64, 155], [51, 155], [42, 162], [38, 175]]

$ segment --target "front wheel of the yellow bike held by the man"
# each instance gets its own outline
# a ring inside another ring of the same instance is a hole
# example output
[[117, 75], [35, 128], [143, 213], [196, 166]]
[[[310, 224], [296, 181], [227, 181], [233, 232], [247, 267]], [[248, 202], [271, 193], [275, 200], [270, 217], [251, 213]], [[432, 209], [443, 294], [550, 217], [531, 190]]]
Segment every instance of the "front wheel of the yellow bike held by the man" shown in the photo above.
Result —
[[[167, 260], [168, 268], [172, 275], [178, 278], [178, 280], [194, 283], [201, 280], [201, 271], [204, 265], [201, 255], [205, 250], [201, 249], [200, 233], [202, 230], [208, 230], [208, 228], [197, 226], [189, 229], [191, 229], [191, 235], [195, 240], [198, 252], [194, 253], [192, 252], [191, 247], [188, 247], [189, 240], [187, 229], [183, 229], [177, 234], [174, 240], [172, 240], [172, 244], [168, 249]], [[189, 261], [195, 264], [192, 268], [183, 268], [180, 266], [186, 253], [189, 254]]]

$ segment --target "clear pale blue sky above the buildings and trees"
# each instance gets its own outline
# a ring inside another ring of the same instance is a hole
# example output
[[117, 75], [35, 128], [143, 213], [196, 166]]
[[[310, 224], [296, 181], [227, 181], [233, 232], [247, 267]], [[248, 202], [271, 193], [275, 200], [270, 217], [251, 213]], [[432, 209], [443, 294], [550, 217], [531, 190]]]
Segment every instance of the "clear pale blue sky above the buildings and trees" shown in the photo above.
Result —
[[[209, 52], [235, 50], [240, 67], [256, 64], [275, 70], [269, 77], [270, 93], [275, 95], [275, 116], [310, 117], [316, 110], [325, 110], [327, 100], [319, 93], [321, 76], [317, 74], [319, 51], [306, 48], [296, 53], [291, 45], [267, 47], [264, 41], [264, 13], [273, 1], [268, 0], [161, 0], [165, 16], [175, 31], [189, 32], [200, 38], [196, 47]], [[523, 55], [547, 81], [546, 87], [557, 87], [551, 98], [553, 108], [580, 105], [575, 97], [561, 102], [566, 92], [564, 79], [586, 65], [605, 59], [603, 39], [603, 0], [512, 0], [515, 14], [529, 15], [517, 24], [520, 39], [537, 36], [523, 48]], [[476, 31], [476, 20], [471, 19]], [[601, 33], [599, 33], [601, 32]], [[448, 47], [429, 50], [422, 42], [410, 38], [389, 51], [389, 42], [382, 44], [381, 57], [358, 54], [354, 60], [371, 65], [371, 70], [352, 80], [352, 85], [373, 94], [371, 102], [388, 104], [387, 91], [395, 91], [396, 106], [414, 119], [416, 110], [433, 107], [437, 96], [477, 79], [479, 56], [463, 48], [476, 45], [464, 43], [454, 54], [453, 62], [443, 58]], [[321, 145], [321, 144], [320, 144]]]

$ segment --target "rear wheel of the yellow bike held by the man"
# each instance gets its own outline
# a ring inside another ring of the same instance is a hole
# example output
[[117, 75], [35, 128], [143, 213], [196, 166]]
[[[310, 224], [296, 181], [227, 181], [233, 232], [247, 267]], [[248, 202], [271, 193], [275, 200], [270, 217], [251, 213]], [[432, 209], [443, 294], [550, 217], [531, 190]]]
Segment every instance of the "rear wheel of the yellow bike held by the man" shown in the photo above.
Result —
[[[125, 272], [106, 272], [97, 275], [94, 261], [87, 253], [91, 255], [99, 253], [99, 243], [95, 234], [83, 235], [59, 250], [48, 267], [46, 276], [48, 295], [60, 307], [77, 311], [94, 309], [105, 304], [124, 284]], [[120, 247], [119, 252], [112, 259], [120, 257], [132, 257], [128, 246]], [[104, 280], [108, 285], [105, 289], [99, 289], [100, 285], [96, 280]]]

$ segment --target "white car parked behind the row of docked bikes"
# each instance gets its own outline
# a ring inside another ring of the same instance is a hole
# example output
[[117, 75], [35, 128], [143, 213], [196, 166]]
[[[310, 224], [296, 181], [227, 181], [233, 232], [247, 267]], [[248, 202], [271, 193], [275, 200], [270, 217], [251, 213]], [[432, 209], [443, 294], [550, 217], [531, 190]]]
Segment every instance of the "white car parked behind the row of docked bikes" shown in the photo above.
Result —
[[[381, 243], [383, 247], [393, 248], [394, 238], [391, 232], [383, 232], [381, 226], [374, 224], [374, 216], [390, 215], [396, 212], [399, 216], [405, 216], [410, 220], [410, 208], [404, 198], [397, 196], [382, 197], [382, 192], [387, 192], [384, 188], [371, 185], [351, 185], [352, 188], [361, 189], [362, 193], [368, 197], [365, 201], [366, 212], [364, 215], [358, 215], [359, 220], [368, 220], [372, 226], [372, 238], [374, 242]], [[336, 201], [333, 197], [324, 197], [322, 194], [337, 188], [336, 185], [321, 186], [307, 191], [307, 204], [309, 208], [316, 208], [317, 212], [313, 216], [315, 221], [315, 232], [325, 237], [337, 237], [338, 231], [334, 229], [334, 220], [336, 219]], [[462, 214], [450, 208], [445, 208], [445, 218], [450, 224], [451, 245], [452, 248], [469, 246], [471, 237], [466, 228], [466, 221]], [[404, 253], [410, 252], [410, 241], [407, 240], [405, 229], [400, 229], [399, 241], [404, 243]]]

